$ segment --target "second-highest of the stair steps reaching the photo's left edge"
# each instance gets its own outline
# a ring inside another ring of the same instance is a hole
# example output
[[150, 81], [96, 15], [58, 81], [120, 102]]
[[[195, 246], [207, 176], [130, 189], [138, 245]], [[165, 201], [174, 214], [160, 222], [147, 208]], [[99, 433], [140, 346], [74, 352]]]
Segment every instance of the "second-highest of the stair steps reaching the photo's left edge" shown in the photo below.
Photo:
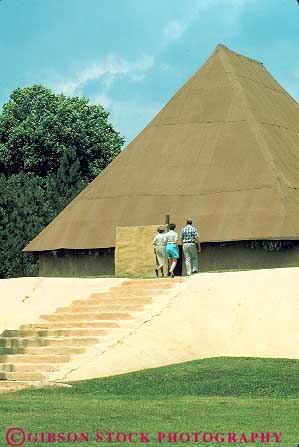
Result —
[[98, 343], [95, 337], [7, 337], [0, 338], [1, 348], [27, 348], [42, 346], [88, 346]]

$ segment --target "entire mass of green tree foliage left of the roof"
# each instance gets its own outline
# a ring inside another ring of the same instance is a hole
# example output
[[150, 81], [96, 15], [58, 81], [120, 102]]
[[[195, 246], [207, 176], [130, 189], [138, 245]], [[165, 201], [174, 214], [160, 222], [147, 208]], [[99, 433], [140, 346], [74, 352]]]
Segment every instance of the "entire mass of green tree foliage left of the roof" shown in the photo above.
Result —
[[120, 152], [107, 118], [41, 85], [12, 92], [0, 115], [0, 278], [23, 274], [24, 246]]

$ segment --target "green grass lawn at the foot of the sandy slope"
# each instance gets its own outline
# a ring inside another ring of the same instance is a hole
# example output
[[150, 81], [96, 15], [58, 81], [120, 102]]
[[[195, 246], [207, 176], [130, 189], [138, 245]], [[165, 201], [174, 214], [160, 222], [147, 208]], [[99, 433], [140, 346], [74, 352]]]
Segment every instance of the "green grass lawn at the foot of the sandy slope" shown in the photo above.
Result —
[[296, 447], [298, 378], [297, 360], [215, 358], [73, 382], [72, 388], [0, 395], [1, 447], [6, 445], [7, 428], [16, 426], [26, 432], [88, 432], [89, 443], [79, 445], [130, 445], [94, 441], [96, 432], [108, 431], [150, 432], [151, 443], [131, 444], [135, 446], [210, 445], [202, 441], [158, 444], [157, 432], [282, 432], [281, 444], [264, 445]]

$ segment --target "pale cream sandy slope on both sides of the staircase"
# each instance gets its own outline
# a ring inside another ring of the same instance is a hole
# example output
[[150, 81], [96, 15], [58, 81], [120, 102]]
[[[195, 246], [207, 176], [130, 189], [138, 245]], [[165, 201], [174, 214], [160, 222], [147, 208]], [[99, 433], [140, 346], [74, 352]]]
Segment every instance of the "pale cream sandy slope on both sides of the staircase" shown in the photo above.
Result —
[[[120, 374], [215, 356], [299, 358], [299, 268], [202, 273], [148, 306], [109, 346], [67, 367], [64, 380]], [[0, 329], [33, 322], [120, 279], [0, 281]], [[24, 301], [24, 298], [25, 301]]]

